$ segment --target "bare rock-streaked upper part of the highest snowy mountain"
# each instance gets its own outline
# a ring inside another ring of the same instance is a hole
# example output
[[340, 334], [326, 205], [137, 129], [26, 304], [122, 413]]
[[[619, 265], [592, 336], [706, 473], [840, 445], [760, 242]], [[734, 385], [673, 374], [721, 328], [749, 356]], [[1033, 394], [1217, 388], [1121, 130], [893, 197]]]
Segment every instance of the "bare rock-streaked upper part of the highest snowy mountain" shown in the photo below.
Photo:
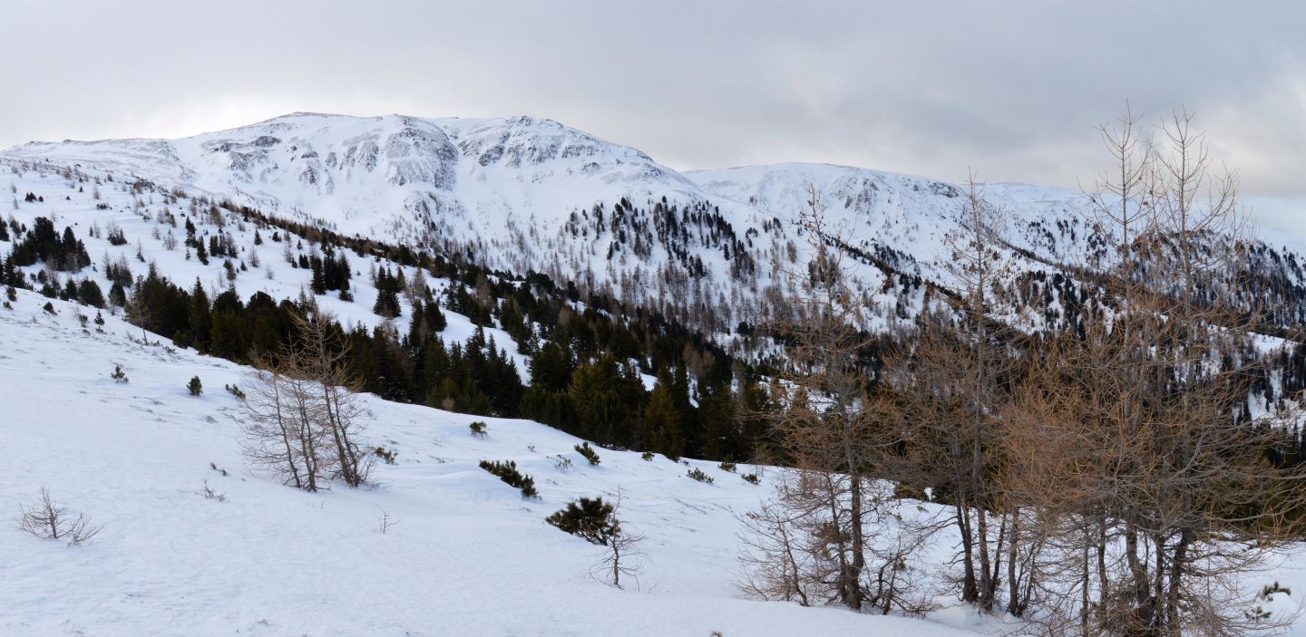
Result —
[[520, 172], [508, 181], [537, 187], [556, 176], [585, 185], [679, 178], [635, 149], [533, 117], [291, 114], [180, 140], [29, 142], [3, 154], [121, 170], [359, 232], [423, 200], [434, 215], [485, 214], [494, 202], [477, 196], [508, 185], [495, 179], [499, 168]]

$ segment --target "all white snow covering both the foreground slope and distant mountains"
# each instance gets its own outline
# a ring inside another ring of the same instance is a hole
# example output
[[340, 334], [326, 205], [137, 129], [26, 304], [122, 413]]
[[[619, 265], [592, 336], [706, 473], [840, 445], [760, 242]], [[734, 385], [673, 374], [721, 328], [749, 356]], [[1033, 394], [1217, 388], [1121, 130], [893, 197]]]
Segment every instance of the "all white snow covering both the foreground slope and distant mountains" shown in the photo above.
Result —
[[[38, 161], [52, 163], [34, 163]], [[242, 299], [265, 291], [277, 300], [308, 287], [308, 270], [282, 260], [282, 243], [252, 245], [253, 227], [227, 214], [223, 231], [244, 252], [248, 272], [223, 277], [222, 260], [187, 260], [184, 248], [163, 248], [154, 228], [162, 192], [182, 188], [231, 198], [264, 211], [317, 219], [338, 231], [392, 243], [448, 241], [475, 247], [486, 265], [524, 273], [565, 274], [620, 287], [629, 275], [637, 294], [658, 298], [656, 281], [669, 268], [657, 247], [646, 260], [605, 256], [607, 238], [575, 240], [562, 226], [573, 210], [628, 197], [636, 206], [669, 196], [680, 205], [710, 202], [748, 239], [759, 281], [733, 281], [720, 252], [700, 249], [708, 275], [704, 296], [729, 299], [725, 321], [748, 315], [750, 300], [774, 283], [773, 258], [797, 234], [798, 211], [812, 184], [828, 204], [836, 230], [853, 245], [887, 248], [897, 268], [946, 281], [944, 236], [955, 228], [957, 187], [927, 178], [825, 164], [777, 164], [678, 174], [644, 153], [594, 138], [551, 120], [436, 119], [400, 115], [342, 117], [294, 114], [251, 127], [185, 140], [33, 142], [0, 153], [0, 175], [43, 202], [20, 202], [13, 214], [31, 225], [38, 215], [72, 226], [97, 268], [104, 255], [125, 258], [135, 274], [146, 264], [137, 245], [175, 283], [196, 278], [218, 291], [235, 287]], [[77, 167], [86, 181], [68, 180], [54, 167]], [[108, 180], [112, 174], [115, 179]], [[136, 178], [162, 191], [133, 194]], [[98, 187], [95, 185], [98, 180]], [[81, 188], [81, 189], [78, 189]], [[97, 198], [94, 191], [99, 191]], [[1029, 184], [990, 184], [987, 194], [1013, 218], [1012, 245], [1053, 262], [1081, 262], [1087, 251], [1085, 201], [1072, 191]], [[179, 217], [189, 200], [170, 205]], [[106, 209], [99, 209], [103, 205]], [[780, 219], [778, 228], [763, 225]], [[218, 228], [206, 214], [192, 215], [200, 236]], [[128, 245], [91, 239], [93, 225], [120, 226]], [[432, 239], [435, 236], [436, 239]], [[1301, 252], [1299, 239], [1269, 234], [1269, 241]], [[12, 244], [0, 243], [0, 253]], [[252, 266], [257, 251], [260, 266]], [[313, 247], [294, 253], [310, 253]], [[376, 290], [367, 258], [347, 253], [355, 275], [353, 303], [334, 292], [319, 300], [346, 325], [380, 325], [371, 312]], [[1013, 257], [1019, 255], [1012, 252]], [[1024, 258], [1024, 257], [1019, 257]], [[1036, 264], [1025, 261], [1027, 266]], [[29, 268], [35, 272], [39, 266]], [[1042, 268], [1042, 265], [1038, 265]], [[643, 274], [641, 274], [643, 273]], [[882, 274], [859, 274], [878, 290]], [[405, 275], [415, 275], [406, 269]], [[108, 290], [102, 272], [84, 270]], [[445, 281], [428, 279], [440, 290]], [[629, 290], [619, 290], [629, 292]], [[60, 504], [85, 510], [104, 531], [90, 544], [69, 548], [24, 535], [0, 523], [0, 633], [7, 634], [765, 634], [868, 633], [895, 636], [1000, 634], [1010, 621], [949, 606], [927, 620], [858, 615], [838, 608], [743, 599], [735, 514], [769, 496], [776, 474], [760, 486], [712, 462], [688, 461], [716, 478], [688, 479], [688, 466], [663, 457], [645, 462], [637, 453], [599, 449], [602, 463], [586, 466], [572, 450], [579, 441], [528, 420], [452, 414], [363, 397], [366, 441], [398, 452], [396, 465], [379, 465], [375, 489], [304, 493], [252, 471], [238, 446], [236, 399], [225, 384], [244, 384], [247, 369], [145, 346], [140, 330], [104, 312], [104, 333], [82, 329], [76, 315], [94, 311], [20, 291], [14, 309], [0, 309], [0, 513], [50, 487]], [[918, 308], [919, 288], [876, 292], [882, 307]], [[447, 341], [464, 341], [474, 325], [445, 311]], [[887, 312], [884, 321], [892, 321]], [[404, 333], [411, 308], [394, 328]], [[1004, 315], [1006, 316], [1006, 315]], [[1015, 318], [1015, 316], [1008, 316]], [[529, 381], [528, 360], [499, 329], [487, 329]], [[717, 332], [726, 343], [733, 337]], [[1275, 341], [1277, 342], [1277, 341]], [[1271, 343], [1267, 341], [1267, 347]], [[108, 379], [121, 364], [128, 384]], [[204, 396], [185, 393], [191, 376]], [[643, 377], [646, 386], [654, 379]], [[475, 439], [468, 424], [486, 420], [490, 435]], [[555, 466], [569, 457], [572, 469]], [[524, 501], [511, 487], [482, 471], [482, 459], [516, 461], [535, 478], [542, 499]], [[210, 463], [226, 469], [223, 476]], [[755, 467], [741, 466], [741, 473]], [[226, 493], [205, 500], [204, 482]], [[543, 518], [579, 496], [622, 496], [626, 526], [648, 535], [639, 585], [607, 586], [594, 576], [596, 547], [565, 535]], [[931, 506], [908, 514], [934, 514]], [[381, 534], [377, 518], [400, 522]], [[919, 567], [942, 582], [951, 538], [940, 536]], [[1306, 555], [1256, 573], [1249, 590], [1280, 581], [1306, 590]], [[1290, 595], [1276, 608], [1290, 610]], [[1293, 634], [1306, 634], [1294, 627]]]

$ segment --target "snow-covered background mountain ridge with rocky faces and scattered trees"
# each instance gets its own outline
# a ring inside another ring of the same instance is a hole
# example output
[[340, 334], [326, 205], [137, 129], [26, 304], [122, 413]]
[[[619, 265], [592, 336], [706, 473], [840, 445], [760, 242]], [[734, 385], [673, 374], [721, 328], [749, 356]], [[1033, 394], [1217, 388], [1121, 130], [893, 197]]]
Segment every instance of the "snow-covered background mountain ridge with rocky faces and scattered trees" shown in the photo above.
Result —
[[[526, 116], [291, 114], [179, 140], [29, 142], [0, 151], [0, 163], [80, 166], [518, 275], [539, 272], [707, 334], [761, 321], [774, 309], [768, 304], [791, 292], [781, 272], [806, 260], [799, 215], [808, 188], [854, 253], [882, 324], [914, 316], [925, 283], [952, 286], [946, 238], [965, 192], [831, 164], [682, 174], [633, 148]], [[1063, 295], [1042, 290], [1045, 274], [1068, 275], [1104, 255], [1080, 192], [993, 183], [983, 196], [1004, 210], [1016, 272], [1040, 278], [1040, 290], [1011, 302], [1012, 316], [1028, 311], [1020, 307], [1028, 299]], [[1262, 244], [1275, 251], [1267, 264], [1306, 253], [1297, 238], [1272, 238]], [[1301, 269], [1272, 275], [1306, 288]]]

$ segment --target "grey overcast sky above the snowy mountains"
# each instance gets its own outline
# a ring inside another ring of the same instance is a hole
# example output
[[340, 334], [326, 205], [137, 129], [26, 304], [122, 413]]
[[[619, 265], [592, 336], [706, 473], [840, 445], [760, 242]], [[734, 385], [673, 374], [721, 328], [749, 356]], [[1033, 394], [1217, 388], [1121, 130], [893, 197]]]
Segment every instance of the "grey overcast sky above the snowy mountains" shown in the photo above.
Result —
[[538, 115], [675, 168], [1076, 187], [1128, 99], [1151, 123], [1195, 111], [1254, 214], [1306, 234], [1299, 1], [0, 0], [0, 148], [290, 111]]

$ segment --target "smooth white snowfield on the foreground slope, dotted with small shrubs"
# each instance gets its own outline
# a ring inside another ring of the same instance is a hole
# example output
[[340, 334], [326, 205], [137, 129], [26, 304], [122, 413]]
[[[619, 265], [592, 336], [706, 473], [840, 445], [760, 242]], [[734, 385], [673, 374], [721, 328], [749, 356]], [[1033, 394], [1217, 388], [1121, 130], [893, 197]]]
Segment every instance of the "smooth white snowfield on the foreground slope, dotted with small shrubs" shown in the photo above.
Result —
[[[0, 527], [0, 633], [88, 634], [515, 634], [737, 636], [973, 634], [961, 610], [938, 621], [743, 599], [735, 589], [742, 512], [760, 486], [709, 462], [686, 465], [598, 449], [526, 422], [478, 418], [364, 397], [363, 439], [398, 452], [376, 488], [307, 493], [247, 469], [240, 410], [226, 384], [247, 369], [127, 338], [106, 317], [80, 326], [74, 304], [20, 291], [0, 309], [5, 461], [0, 509], [17, 513], [48, 487], [103, 531], [81, 547]], [[94, 317], [91, 311], [90, 317]], [[127, 384], [108, 377], [123, 365]], [[204, 382], [188, 396], [191, 376]], [[488, 423], [473, 437], [468, 424]], [[555, 467], [552, 456], [572, 461]], [[542, 499], [481, 470], [513, 459]], [[227, 470], [223, 476], [210, 469]], [[754, 470], [741, 466], [742, 471]], [[204, 482], [227, 501], [201, 495]], [[620, 517], [648, 539], [637, 585], [592, 574], [599, 547], [543, 518], [579, 496], [622, 495]], [[388, 512], [398, 522], [380, 531]], [[989, 630], [986, 630], [989, 632]]]

